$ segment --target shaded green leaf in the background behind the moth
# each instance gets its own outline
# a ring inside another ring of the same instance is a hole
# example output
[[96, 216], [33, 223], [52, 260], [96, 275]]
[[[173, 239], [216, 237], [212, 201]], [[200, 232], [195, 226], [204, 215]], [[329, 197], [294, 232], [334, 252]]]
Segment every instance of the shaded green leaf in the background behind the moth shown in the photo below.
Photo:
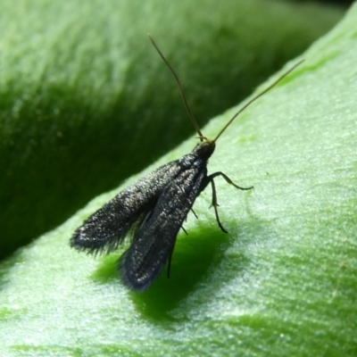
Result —
[[2, 0], [0, 13], [0, 259], [192, 133], [147, 32], [203, 123], [342, 14], [266, 0]]

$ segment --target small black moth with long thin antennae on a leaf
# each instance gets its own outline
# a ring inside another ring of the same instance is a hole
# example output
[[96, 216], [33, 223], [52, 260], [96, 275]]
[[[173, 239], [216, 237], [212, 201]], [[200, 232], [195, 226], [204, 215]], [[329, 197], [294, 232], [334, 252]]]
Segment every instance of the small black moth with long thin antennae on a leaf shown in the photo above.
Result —
[[214, 179], [221, 176], [228, 184], [240, 190], [250, 190], [253, 187], [239, 187], [221, 171], [208, 175], [207, 163], [214, 152], [216, 141], [247, 106], [269, 91], [301, 63], [295, 64], [270, 87], [254, 96], [228, 120], [217, 137], [209, 139], [203, 136], [195, 121], [176, 72], [155, 44], [154, 39], [150, 35], [149, 38], [179, 86], [188, 117], [194, 125], [200, 143], [195, 146], [192, 153], [166, 163], [124, 189], [85, 220], [71, 237], [71, 247], [79, 251], [94, 254], [111, 253], [123, 243], [131, 230], [131, 244], [121, 255], [118, 269], [124, 286], [135, 291], [144, 291], [151, 286], [166, 262], [168, 262], [168, 275], [170, 274], [171, 256], [179, 229], [183, 228], [183, 221], [192, 210], [195, 198], [209, 185], [212, 187], [212, 207], [218, 226], [223, 232], [228, 233], [220, 223]]

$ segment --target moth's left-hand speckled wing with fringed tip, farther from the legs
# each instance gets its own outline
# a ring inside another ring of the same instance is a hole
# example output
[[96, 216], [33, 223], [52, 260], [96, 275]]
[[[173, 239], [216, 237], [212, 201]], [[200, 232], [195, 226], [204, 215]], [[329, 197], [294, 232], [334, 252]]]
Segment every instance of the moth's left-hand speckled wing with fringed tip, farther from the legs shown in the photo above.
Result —
[[115, 250], [133, 224], [153, 208], [178, 170], [176, 162], [169, 162], [121, 191], [76, 229], [71, 246], [88, 253]]

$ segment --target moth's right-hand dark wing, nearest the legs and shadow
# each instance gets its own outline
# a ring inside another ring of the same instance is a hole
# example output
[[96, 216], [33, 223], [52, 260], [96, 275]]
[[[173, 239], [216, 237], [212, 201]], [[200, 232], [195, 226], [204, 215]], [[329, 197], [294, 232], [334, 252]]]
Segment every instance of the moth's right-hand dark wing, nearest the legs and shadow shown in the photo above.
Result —
[[162, 192], [137, 229], [129, 249], [120, 257], [124, 285], [143, 291], [159, 276], [173, 251], [179, 228], [201, 192], [206, 174], [205, 165], [179, 172]]

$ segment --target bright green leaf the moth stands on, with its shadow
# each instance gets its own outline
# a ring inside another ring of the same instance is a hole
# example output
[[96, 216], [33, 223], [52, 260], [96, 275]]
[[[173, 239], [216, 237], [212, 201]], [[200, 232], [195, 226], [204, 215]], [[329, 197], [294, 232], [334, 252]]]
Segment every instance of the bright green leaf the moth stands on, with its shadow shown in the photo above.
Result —
[[[73, 230], [122, 187], [95, 198], [0, 266], [0, 354], [356, 355], [356, 23], [355, 4], [220, 137], [209, 171], [254, 186], [217, 180], [228, 235], [207, 189], [199, 219], [189, 215], [188, 236], [179, 234], [171, 278], [131, 293], [116, 277], [120, 251], [94, 259], [69, 247]], [[203, 134], [214, 137], [237, 108]]]

